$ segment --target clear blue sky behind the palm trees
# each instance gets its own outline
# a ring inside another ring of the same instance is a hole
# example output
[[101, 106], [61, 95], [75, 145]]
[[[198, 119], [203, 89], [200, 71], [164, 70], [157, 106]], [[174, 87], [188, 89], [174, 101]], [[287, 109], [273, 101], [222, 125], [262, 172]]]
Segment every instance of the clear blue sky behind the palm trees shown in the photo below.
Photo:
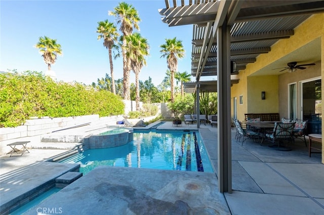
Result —
[[[110, 75], [108, 50], [97, 40], [98, 21], [115, 18], [108, 11], [120, 1], [0, 1], [0, 71], [16, 69], [47, 71], [43, 57], [34, 47], [40, 36], [57, 39], [63, 55], [52, 65], [57, 80], [97, 83], [106, 73]], [[158, 9], [164, 0], [125, 1], [139, 13], [139, 33], [147, 38], [150, 56], [140, 73], [140, 80], [150, 76], [157, 86], [166, 76], [167, 60], [160, 58], [160, 45], [166, 38], [177, 37], [185, 48], [185, 58], [178, 61], [178, 71], [191, 73], [192, 25], [169, 27], [161, 21]], [[119, 29], [119, 26], [118, 26]], [[115, 79], [123, 78], [122, 59], [113, 62]], [[192, 80], [194, 78], [192, 77]], [[131, 72], [131, 82], [135, 75]]]

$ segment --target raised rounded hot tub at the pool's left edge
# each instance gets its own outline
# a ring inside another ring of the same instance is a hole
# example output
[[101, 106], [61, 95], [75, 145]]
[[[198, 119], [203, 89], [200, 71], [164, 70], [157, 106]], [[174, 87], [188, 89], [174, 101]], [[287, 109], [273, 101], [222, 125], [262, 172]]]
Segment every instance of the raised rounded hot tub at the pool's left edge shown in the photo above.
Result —
[[110, 148], [125, 145], [134, 140], [133, 130], [114, 128], [107, 131], [101, 130], [98, 134], [91, 134], [84, 138], [85, 148]]

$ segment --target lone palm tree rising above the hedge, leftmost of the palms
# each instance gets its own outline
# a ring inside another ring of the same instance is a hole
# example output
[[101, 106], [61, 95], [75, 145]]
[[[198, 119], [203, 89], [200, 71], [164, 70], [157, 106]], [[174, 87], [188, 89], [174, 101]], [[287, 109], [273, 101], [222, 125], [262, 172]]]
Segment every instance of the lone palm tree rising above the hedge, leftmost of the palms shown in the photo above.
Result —
[[57, 55], [62, 55], [61, 45], [56, 43], [56, 39], [51, 39], [47, 36], [39, 37], [35, 47], [39, 48], [39, 52], [42, 53], [48, 70], [51, 70], [51, 65], [55, 64]]

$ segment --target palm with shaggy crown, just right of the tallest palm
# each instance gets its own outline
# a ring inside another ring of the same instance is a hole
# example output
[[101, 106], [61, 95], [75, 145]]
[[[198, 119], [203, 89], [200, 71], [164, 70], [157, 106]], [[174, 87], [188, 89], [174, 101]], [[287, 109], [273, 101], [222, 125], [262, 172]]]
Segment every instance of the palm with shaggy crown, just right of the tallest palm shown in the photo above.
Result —
[[139, 73], [146, 65], [145, 57], [149, 55], [149, 45], [146, 38], [139, 33], [134, 33], [126, 37], [127, 57], [131, 62], [131, 68], [135, 73], [136, 111], [140, 111], [140, 83]]

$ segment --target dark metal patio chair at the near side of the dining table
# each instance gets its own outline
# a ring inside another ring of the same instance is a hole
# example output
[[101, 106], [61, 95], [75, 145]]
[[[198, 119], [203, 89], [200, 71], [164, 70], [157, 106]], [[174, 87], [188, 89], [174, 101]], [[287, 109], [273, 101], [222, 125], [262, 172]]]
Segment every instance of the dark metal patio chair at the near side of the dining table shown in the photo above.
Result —
[[[283, 141], [292, 142], [294, 140], [294, 127], [295, 123], [282, 123], [275, 122], [272, 134], [266, 134], [266, 137], [273, 142], [276, 147], [283, 147]], [[288, 146], [288, 143], [287, 143]]]

